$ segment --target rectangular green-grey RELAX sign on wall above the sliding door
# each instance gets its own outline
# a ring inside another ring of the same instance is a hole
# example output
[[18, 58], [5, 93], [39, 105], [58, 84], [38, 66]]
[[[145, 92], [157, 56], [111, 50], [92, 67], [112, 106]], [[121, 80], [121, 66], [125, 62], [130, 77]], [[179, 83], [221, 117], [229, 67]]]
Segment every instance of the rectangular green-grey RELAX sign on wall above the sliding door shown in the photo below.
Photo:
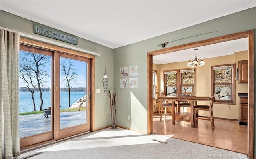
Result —
[[47, 26], [34, 24], [34, 33], [40, 34], [40, 35], [43, 35], [43, 36], [47, 36], [47, 37], [50, 37], [50, 38], [54, 38], [54, 39], [57, 39], [57, 40], [61, 40], [63, 42], [68, 42], [70, 44], [74, 44], [74, 45], [77, 44], [76, 36], [73, 36], [73, 35], [68, 34], [68, 33], [64, 33], [64, 32], [60, 32], [60, 31], [50, 29]]

